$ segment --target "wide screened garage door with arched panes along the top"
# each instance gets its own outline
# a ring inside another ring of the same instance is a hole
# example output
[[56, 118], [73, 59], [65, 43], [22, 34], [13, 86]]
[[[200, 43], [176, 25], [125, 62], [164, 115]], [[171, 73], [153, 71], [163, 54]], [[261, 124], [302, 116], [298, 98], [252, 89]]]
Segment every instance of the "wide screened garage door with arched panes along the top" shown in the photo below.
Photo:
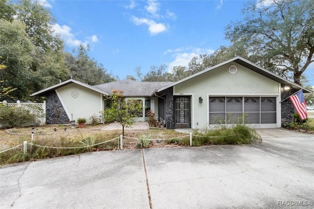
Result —
[[209, 97], [209, 124], [276, 124], [276, 97]]

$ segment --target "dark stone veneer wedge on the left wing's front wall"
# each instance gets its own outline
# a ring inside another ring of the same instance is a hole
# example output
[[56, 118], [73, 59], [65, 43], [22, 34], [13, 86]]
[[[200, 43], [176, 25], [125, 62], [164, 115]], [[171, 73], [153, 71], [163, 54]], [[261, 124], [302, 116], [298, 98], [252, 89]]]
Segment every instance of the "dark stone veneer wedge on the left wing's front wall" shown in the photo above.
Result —
[[70, 119], [57, 94], [53, 91], [46, 96], [46, 124], [69, 124]]

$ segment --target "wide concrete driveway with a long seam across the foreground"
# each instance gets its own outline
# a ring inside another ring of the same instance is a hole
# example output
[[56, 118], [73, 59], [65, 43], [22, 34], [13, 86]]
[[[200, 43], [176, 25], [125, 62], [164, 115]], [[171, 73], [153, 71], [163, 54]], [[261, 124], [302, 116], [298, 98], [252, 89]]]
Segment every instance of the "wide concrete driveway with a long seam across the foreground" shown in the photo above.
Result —
[[314, 135], [85, 153], [0, 168], [0, 208], [314, 208]]

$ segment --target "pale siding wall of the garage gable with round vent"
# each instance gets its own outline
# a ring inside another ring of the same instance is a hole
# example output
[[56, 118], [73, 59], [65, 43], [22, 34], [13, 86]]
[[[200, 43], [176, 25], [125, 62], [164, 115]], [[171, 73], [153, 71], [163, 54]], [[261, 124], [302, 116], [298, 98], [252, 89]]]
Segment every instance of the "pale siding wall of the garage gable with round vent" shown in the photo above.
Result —
[[[230, 65], [237, 67], [235, 74], [229, 73]], [[203, 129], [208, 125], [208, 96], [280, 98], [280, 83], [233, 62], [175, 85], [174, 95], [191, 95], [191, 128]], [[203, 99], [202, 104], [199, 103], [199, 97]], [[279, 99], [277, 105], [280, 105]]]

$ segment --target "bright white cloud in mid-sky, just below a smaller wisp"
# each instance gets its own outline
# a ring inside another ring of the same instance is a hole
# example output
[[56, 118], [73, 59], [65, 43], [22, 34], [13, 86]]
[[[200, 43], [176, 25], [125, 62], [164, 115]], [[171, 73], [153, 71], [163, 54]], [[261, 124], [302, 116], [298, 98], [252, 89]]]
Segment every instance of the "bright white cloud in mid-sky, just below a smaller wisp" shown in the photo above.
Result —
[[168, 25], [163, 24], [163, 23], [156, 23], [153, 20], [149, 20], [146, 18], [138, 18], [138, 17], [134, 17], [132, 16], [132, 22], [136, 25], [147, 25], [148, 26], [148, 30], [149, 33], [151, 35], [157, 35], [158, 33], [164, 32], [168, 30]]

